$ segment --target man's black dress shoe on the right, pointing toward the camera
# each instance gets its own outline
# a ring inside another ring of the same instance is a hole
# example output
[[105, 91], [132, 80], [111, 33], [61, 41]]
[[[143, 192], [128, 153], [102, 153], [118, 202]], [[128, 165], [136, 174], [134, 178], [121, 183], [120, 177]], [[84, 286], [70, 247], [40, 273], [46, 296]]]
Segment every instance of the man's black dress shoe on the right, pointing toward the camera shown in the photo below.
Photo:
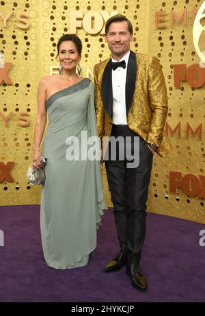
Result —
[[148, 289], [148, 284], [146, 278], [143, 276], [139, 265], [131, 265], [131, 267], [126, 266], [126, 274], [131, 278], [131, 284], [135, 289], [146, 292]]

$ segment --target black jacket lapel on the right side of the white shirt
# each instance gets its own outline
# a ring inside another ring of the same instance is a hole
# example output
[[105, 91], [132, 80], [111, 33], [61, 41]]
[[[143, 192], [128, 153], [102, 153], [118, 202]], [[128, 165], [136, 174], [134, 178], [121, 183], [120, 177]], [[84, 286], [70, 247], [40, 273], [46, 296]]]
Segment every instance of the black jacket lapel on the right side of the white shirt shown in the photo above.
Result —
[[127, 72], [126, 72], [126, 117], [128, 117], [129, 108], [131, 106], [131, 102], [133, 100], [133, 95], [135, 92], [135, 82], [136, 82], [136, 75], [137, 75], [137, 60], [136, 55], [133, 51], [131, 51], [128, 65], [127, 65]]

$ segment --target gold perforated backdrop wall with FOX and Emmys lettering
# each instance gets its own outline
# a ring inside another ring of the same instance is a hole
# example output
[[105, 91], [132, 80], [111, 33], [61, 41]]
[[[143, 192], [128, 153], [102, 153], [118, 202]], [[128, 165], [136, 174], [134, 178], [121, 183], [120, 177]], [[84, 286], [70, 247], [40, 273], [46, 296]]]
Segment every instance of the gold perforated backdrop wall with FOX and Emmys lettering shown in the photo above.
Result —
[[[148, 210], [205, 223], [205, 1], [0, 1], [0, 205], [39, 204], [26, 173], [32, 161], [38, 82], [57, 73], [57, 40], [83, 42], [83, 77], [108, 58], [105, 22], [133, 23], [131, 49], [159, 58], [167, 84], [165, 131], [172, 152], [154, 155]], [[204, 47], [203, 47], [204, 46]], [[204, 51], [203, 51], [204, 50]], [[105, 169], [107, 203], [111, 206]]]

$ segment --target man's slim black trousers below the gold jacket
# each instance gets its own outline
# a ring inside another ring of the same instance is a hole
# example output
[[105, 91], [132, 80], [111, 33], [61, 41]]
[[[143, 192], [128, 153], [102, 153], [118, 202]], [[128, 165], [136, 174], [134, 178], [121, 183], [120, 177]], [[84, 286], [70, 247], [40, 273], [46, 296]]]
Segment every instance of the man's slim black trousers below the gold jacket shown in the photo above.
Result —
[[[152, 170], [153, 154], [143, 139], [127, 125], [113, 125], [111, 136], [131, 136], [132, 151], [134, 138], [139, 137], [139, 165], [128, 167], [128, 160], [119, 160], [119, 147], [115, 160], [105, 161], [111, 200], [114, 206], [115, 223], [118, 230], [120, 250], [126, 253], [128, 265], [137, 265], [146, 234], [146, 202]], [[125, 150], [128, 144], [125, 142]], [[130, 144], [129, 144], [130, 145]], [[111, 144], [109, 143], [109, 151]]]

